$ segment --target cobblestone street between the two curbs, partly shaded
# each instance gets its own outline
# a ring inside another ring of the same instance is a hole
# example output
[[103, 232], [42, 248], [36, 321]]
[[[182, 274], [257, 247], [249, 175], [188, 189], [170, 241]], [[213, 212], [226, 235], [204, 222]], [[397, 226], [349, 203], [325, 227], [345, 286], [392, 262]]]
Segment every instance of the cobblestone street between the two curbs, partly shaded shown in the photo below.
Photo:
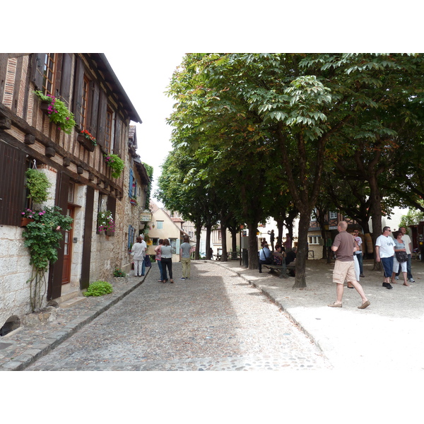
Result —
[[27, 370], [326, 370], [321, 351], [265, 295], [228, 269], [144, 283]]

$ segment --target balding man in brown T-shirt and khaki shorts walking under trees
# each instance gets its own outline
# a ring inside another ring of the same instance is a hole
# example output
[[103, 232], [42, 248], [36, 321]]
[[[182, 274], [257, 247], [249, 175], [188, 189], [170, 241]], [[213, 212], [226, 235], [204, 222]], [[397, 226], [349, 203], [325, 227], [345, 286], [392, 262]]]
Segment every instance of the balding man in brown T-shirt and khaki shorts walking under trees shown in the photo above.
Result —
[[355, 290], [359, 293], [362, 299], [362, 305], [358, 309], [365, 309], [370, 306], [370, 301], [367, 300], [362, 285], [356, 281], [355, 266], [353, 263], [353, 252], [355, 251], [355, 240], [346, 229], [348, 223], [340, 221], [337, 225], [338, 235], [334, 239], [331, 250], [336, 254], [336, 264], [334, 264], [333, 282], [336, 283], [336, 302], [328, 305], [329, 307], [342, 307], [343, 285], [345, 279], [351, 283]]

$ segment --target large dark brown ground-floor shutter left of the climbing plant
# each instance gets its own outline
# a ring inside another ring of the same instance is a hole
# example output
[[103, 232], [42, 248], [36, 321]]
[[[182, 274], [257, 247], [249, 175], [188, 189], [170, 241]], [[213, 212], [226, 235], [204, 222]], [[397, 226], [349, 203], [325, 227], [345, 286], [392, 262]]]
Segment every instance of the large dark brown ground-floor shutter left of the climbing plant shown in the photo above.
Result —
[[26, 155], [0, 141], [0, 225], [20, 224], [25, 208]]

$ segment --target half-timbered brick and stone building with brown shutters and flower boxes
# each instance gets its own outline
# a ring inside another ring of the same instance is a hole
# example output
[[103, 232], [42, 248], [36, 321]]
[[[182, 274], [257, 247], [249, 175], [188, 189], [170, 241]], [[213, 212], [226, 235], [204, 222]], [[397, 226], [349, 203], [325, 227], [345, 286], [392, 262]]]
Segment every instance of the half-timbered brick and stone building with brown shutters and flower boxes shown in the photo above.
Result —
[[[52, 122], [35, 91], [61, 100], [73, 113], [70, 134]], [[130, 199], [139, 196], [141, 204], [148, 184], [129, 141], [131, 121], [141, 123], [104, 54], [0, 54], [0, 327], [11, 315], [30, 312], [30, 257], [20, 228], [21, 213], [31, 206], [28, 167], [52, 183], [46, 206], [59, 206], [73, 218], [49, 269], [46, 300], [128, 266], [131, 228], [139, 232], [138, 205]], [[111, 154], [124, 160], [117, 177], [107, 163]], [[114, 232], [99, 231], [102, 210], [112, 213]]]

